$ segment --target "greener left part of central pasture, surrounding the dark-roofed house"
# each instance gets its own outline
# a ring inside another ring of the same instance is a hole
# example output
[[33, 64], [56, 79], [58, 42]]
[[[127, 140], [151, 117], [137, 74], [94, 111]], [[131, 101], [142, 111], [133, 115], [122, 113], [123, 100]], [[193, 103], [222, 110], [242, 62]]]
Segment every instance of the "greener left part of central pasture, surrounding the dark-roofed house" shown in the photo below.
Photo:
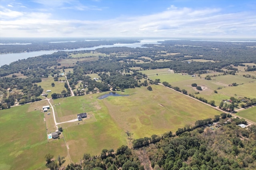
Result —
[[90, 94], [54, 100], [55, 104], [60, 103], [59, 106], [55, 106], [58, 119], [64, 120], [69, 116], [70, 119], [75, 119], [76, 115], [82, 112], [92, 116], [83, 121], [61, 124], [74, 162], [78, 162], [84, 153], [100, 154], [102, 149], [116, 150], [121, 145], [127, 145], [126, 134], [109, 115], [107, 107], [96, 98], [99, 95]]

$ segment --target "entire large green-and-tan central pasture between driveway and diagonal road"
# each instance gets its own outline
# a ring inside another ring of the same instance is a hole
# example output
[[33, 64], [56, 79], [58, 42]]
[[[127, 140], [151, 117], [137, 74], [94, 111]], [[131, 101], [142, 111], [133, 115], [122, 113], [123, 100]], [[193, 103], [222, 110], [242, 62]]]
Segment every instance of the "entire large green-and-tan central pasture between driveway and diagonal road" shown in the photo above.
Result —
[[126, 89], [118, 93], [130, 96], [102, 100], [97, 97], [108, 92], [53, 100], [57, 121], [75, 119], [82, 112], [91, 116], [61, 124], [72, 161], [79, 161], [84, 152], [100, 154], [102, 149], [129, 146], [126, 131], [133, 133], [134, 139], [167, 131], [175, 133], [186, 124], [193, 125], [198, 119], [221, 113], [163, 86], [152, 85], [152, 88], [153, 91], [146, 87]]

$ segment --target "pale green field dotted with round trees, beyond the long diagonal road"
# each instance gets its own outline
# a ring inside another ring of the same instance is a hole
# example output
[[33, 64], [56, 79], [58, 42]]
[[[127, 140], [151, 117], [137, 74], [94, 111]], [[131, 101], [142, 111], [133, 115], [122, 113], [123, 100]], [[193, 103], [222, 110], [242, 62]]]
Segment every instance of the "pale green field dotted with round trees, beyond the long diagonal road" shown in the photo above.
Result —
[[[218, 106], [220, 101], [229, 99], [230, 97], [244, 98], [244, 96], [246, 96], [248, 98], [255, 98], [256, 96], [256, 91], [252, 90], [256, 86], [256, 81], [254, 81], [255, 79], [234, 75], [217, 76], [212, 77], [212, 79], [215, 80], [204, 80], [203, 78], [197, 77], [194, 80], [173, 82], [171, 85], [178, 86], [180, 89], [185, 89], [190, 94], [200, 92], [200, 94], [197, 94], [196, 96], [203, 97], [207, 99], [208, 102], [214, 100], [216, 106]], [[228, 84], [232, 84], [233, 82], [236, 82], [240, 85], [228, 86]], [[196, 90], [196, 88], [191, 86], [192, 83], [196, 83], [198, 86], [202, 86], [203, 90]], [[222, 89], [217, 90], [218, 87]], [[214, 93], [214, 90], [217, 90], [218, 93]]]

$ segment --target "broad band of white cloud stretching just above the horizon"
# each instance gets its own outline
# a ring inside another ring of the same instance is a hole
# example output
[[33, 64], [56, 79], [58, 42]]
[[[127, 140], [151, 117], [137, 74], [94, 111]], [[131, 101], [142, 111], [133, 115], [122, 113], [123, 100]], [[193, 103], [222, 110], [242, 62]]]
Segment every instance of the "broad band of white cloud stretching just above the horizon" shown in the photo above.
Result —
[[4, 9], [0, 14], [0, 36], [3, 37], [252, 37], [252, 35], [255, 37], [256, 35], [256, 18], [252, 13], [222, 14], [220, 9], [215, 8], [202, 10], [175, 8], [147, 16], [118, 17], [98, 21], [54, 20], [52, 14], [46, 12], [18, 12], [9, 9]]

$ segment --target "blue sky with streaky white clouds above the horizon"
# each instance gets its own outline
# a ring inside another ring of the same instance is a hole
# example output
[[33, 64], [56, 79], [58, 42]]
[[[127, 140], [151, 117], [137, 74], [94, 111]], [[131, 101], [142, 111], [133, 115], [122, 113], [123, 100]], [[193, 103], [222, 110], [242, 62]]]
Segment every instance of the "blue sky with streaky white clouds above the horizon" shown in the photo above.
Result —
[[256, 38], [256, 0], [0, 0], [0, 37]]

